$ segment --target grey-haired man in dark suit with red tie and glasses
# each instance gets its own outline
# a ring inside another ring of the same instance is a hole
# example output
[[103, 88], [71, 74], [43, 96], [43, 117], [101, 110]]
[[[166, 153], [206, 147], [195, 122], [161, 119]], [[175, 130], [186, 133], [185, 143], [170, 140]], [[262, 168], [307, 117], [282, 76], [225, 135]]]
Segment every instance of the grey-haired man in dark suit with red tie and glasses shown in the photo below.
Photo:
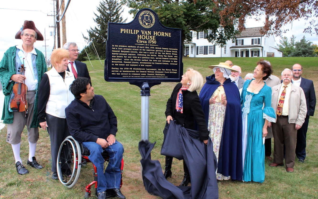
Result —
[[[67, 42], [63, 46], [64, 49], [69, 50], [70, 55], [68, 57], [68, 67], [67, 71], [71, 71], [74, 74], [75, 79], [77, 77], [86, 77], [89, 80], [91, 80], [91, 77], [89, 76], [86, 63], [82, 63], [79, 61], [76, 61], [78, 55], [79, 55], [79, 49], [77, 47], [77, 44], [75, 42]], [[92, 85], [92, 82], [90, 82]]]

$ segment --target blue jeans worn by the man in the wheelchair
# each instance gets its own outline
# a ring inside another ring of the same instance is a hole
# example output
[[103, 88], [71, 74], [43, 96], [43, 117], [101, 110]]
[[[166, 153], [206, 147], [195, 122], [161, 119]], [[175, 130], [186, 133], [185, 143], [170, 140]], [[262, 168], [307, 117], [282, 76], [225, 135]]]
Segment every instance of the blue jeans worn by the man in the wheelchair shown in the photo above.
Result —
[[113, 145], [105, 150], [109, 155], [109, 163], [104, 173], [104, 158], [101, 153], [103, 148], [95, 142], [83, 142], [84, 147], [90, 151], [88, 159], [96, 166], [97, 170], [97, 192], [106, 191], [106, 189], [120, 188], [121, 183], [121, 159], [124, 147], [116, 140]]

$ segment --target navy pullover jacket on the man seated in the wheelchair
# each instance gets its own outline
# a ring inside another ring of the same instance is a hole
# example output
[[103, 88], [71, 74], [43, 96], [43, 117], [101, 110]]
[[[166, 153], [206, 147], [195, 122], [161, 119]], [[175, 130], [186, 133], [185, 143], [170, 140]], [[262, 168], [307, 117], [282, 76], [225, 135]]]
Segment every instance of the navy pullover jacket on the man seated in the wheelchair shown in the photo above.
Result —
[[92, 108], [79, 99], [74, 99], [65, 109], [66, 121], [71, 136], [79, 143], [116, 136], [117, 118], [101, 95], [95, 95]]

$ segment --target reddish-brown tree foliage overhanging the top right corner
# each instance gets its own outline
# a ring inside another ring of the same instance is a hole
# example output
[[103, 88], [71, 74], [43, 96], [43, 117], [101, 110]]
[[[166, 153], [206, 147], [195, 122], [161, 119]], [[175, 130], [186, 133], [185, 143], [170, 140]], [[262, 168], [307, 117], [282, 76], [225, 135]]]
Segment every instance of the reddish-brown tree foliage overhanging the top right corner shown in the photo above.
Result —
[[[197, 1], [197, 0], [195, 0]], [[232, 24], [232, 20], [238, 18], [238, 28], [241, 32], [245, 29], [245, 20], [252, 15], [259, 20], [259, 16], [265, 15], [265, 26], [261, 33], [281, 35], [288, 29], [281, 27], [294, 20], [305, 18], [309, 25], [305, 33], [318, 34], [318, 0], [201, 0], [214, 3], [219, 9], [221, 25]], [[229, 20], [230, 19], [230, 20]]]

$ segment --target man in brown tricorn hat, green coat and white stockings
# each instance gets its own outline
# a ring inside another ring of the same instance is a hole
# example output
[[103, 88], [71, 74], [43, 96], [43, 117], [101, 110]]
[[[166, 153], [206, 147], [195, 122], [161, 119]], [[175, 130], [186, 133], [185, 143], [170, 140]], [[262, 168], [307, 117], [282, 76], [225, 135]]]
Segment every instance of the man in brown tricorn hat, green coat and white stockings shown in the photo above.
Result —
[[[27, 164], [42, 169], [35, 158], [35, 149], [39, 138], [38, 132], [38, 84], [47, 71], [43, 53], [34, 48], [35, 41], [43, 41], [42, 34], [35, 27], [33, 21], [24, 21], [22, 28], [17, 32], [16, 39], [22, 40], [22, 45], [10, 47], [3, 55], [0, 62], [0, 79], [5, 95], [3, 104], [3, 123], [7, 126], [7, 142], [12, 145], [18, 174], [29, 171], [22, 165], [20, 158], [21, 134], [25, 126], [28, 130], [29, 158]], [[21, 65], [24, 64], [24, 73], [19, 74]], [[24, 83], [27, 85], [28, 112], [14, 112], [10, 103], [14, 99], [13, 85]]]

